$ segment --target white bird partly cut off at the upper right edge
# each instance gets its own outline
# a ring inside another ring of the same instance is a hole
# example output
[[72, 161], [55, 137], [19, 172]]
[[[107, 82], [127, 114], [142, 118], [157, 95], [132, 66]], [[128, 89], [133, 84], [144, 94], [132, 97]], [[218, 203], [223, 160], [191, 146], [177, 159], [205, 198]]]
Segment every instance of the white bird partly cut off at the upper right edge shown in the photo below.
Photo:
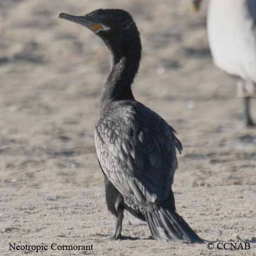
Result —
[[[201, 2], [193, 0], [196, 10]], [[214, 63], [241, 78], [237, 95], [243, 98], [245, 125], [253, 126], [250, 100], [256, 97], [256, 0], [210, 0], [207, 30]]]

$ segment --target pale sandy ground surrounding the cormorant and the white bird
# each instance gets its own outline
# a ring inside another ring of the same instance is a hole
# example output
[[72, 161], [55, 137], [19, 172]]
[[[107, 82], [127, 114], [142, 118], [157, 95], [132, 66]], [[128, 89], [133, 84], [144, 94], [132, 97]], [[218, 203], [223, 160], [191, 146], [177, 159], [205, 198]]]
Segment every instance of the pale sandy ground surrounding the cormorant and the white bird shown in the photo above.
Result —
[[[207, 3], [194, 15], [189, 2], [1, 0], [1, 255], [256, 255], [256, 130], [241, 125], [236, 81], [212, 63]], [[249, 242], [250, 250], [149, 240], [147, 225], [128, 213], [123, 235], [134, 239], [106, 240], [113, 217], [94, 125], [108, 51], [90, 31], [57, 19], [97, 8], [129, 10], [141, 31], [134, 93], [184, 146], [173, 185], [177, 211], [201, 237]], [[8, 243], [93, 250], [8, 251]]]

